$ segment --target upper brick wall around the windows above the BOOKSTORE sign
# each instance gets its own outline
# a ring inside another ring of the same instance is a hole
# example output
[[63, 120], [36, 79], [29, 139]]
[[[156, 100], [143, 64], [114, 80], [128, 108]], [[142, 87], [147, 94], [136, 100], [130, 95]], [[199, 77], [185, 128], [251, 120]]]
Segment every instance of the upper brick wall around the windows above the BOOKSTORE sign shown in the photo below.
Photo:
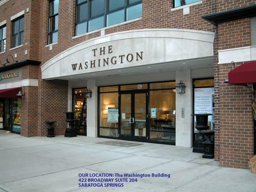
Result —
[[[33, 9], [31, 9], [31, 1], [33, 1]], [[6, 60], [6, 57], [11, 54], [14, 57], [14, 54], [17, 54], [17, 58], [14, 60], [26, 60], [26, 59], [38, 59], [38, 43], [36, 38], [38, 37], [36, 33], [38, 32], [38, 16], [35, 15], [38, 12], [38, 0], [9, 0], [0, 6], [0, 22], [6, 20], [6, 51], [5, 53], [0, 54], [0, 60], [3, 63]], [[35, 7], [37, 6], [37, 10]], [[29, 12], [26, 12], [26, 9], [29, 8]], [[24, 11], [24, 39], [23, 46], [19, 48], [12, 48], [12, 21], [11, 16], [15, 15], [18, 12]], [[39, 13], [39, 12], [38, 12]], [[38, 14], [37, 13], [37, 14]], [[33, 14], [33, 15], [32, 15]], [[36, 30], [31, 30], [31, 29]], [[27, 54], [25, 55], [25, 50]], [[14, 63], [12, 57], [9, 56], [8, 60], [10, 64]], [[15, 63], [14, 63], [15, 64]], [[2, 66], [0, 66], [2, 67]]]

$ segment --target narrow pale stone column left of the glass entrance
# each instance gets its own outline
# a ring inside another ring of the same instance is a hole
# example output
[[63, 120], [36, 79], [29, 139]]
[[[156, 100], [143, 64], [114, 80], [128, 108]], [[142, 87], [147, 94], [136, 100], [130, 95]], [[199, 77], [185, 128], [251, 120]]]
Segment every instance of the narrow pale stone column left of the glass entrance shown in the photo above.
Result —
[[98, 137], [97, 119], [98, 119], [98, 87], [96, 86], [96, 80], [90, 79], [87, 81], [87, 88], [92, 91], [92, 97], [87, 98], [87, 136]]

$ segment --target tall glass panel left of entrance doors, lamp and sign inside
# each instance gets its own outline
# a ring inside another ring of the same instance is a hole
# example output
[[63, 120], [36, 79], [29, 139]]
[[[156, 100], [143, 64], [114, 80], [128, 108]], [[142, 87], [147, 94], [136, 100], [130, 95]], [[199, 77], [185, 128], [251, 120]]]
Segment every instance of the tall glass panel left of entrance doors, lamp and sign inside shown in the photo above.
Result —
[[99, 100], [99, 134], [118, 137], [118, 92], [100, 93]]

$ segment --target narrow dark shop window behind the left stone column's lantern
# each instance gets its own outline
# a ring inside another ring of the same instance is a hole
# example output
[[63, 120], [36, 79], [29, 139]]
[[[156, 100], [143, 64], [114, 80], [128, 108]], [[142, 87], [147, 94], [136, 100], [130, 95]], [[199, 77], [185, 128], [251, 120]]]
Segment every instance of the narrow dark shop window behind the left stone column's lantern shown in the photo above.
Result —
[[73, 89], [73, 111], [75, 112], [75, 127], [77, 134], [86, 135], [86, 88]]

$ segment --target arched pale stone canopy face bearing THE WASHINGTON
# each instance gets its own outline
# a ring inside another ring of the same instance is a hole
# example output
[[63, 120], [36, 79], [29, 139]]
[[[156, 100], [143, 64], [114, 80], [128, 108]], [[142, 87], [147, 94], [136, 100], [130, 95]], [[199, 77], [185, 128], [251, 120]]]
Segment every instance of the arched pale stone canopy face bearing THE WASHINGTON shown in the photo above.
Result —
[[123, 31], [68, 48], [41, 66], [42, 79], [213, 57], [214, 33], [186, 29]]

